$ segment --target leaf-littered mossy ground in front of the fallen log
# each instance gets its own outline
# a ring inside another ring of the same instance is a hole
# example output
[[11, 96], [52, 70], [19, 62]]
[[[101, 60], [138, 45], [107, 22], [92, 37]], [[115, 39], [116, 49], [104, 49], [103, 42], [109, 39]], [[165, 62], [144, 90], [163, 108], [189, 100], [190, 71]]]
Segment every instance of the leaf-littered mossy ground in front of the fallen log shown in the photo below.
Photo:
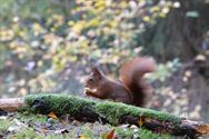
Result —
[[100, 122], [80, 122], [69, 116], [31, 115], [1, 111], [0, 138], [9, 139], [176, 139], [157, 135], [136, 126], [113, 127]]

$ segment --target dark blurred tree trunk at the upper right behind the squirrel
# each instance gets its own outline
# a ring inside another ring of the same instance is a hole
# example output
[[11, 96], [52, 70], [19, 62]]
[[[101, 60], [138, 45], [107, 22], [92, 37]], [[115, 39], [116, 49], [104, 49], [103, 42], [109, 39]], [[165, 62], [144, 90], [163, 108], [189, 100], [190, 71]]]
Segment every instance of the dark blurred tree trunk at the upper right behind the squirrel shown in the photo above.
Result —
[[[178, 1], [180, 8], [171, 9], [167, 18], [159, 19], [156, 26], [139, 37], [141, 46], [145, 46], [145, 53], [161, 61], [175, 58], [188, 61], [205, 51], [202, 42], [209, 29], [209, 4], [203, 0]], [[188, 16], [189, 12], [196, 12], [198, 16]]]

